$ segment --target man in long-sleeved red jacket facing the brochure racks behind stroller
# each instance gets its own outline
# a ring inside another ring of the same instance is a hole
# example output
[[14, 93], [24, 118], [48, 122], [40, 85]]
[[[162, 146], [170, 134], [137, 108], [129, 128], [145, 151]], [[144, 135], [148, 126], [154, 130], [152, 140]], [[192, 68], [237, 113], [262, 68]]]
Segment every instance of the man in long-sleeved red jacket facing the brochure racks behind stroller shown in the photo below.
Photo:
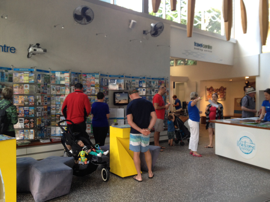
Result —
[[[75, 125], [72, 126], [72, 132], [86, 131], [86, 117], [91, 112], [91, 104], [88, 96], [83, 93], [83, 85], [81, 83], [75, 84], [75, 92], [70, 93], [64, 100], [62, 106], [62, 113], [64, 117], [71, 120]], [[67, 122], [68, 129], [71, 126]]]

